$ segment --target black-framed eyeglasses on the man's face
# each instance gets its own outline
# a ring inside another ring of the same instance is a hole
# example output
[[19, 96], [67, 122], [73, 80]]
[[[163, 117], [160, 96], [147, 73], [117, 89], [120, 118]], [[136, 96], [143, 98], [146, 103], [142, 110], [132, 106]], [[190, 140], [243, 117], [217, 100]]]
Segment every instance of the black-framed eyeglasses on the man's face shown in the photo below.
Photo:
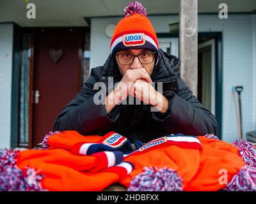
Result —
[[121, 54], [116, 54], [118, 62], [122, 65], [132, 64], [135, 57], [138, 57], [141, 64], [150, 64], [154, 62], [156, 52], [141, 52], [138, 55], [133, 55], [130, 52], [124, 52]]

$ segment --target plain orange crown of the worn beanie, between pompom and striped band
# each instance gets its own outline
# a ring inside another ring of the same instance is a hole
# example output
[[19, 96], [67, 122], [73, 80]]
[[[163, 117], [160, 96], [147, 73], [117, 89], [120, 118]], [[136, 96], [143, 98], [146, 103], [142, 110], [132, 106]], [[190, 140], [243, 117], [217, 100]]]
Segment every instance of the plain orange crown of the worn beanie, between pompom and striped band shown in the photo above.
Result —
[[145, 31], [150, 33], [158, 46], [156, 32], [150, 20], [144, 15], [137, 13], [129, 17], [124, 17], [118, 22], [113, 32], [111, 43], [116, 39], [116, 36], [120, 36], [120, 34], [131, 33], [132, 31]]

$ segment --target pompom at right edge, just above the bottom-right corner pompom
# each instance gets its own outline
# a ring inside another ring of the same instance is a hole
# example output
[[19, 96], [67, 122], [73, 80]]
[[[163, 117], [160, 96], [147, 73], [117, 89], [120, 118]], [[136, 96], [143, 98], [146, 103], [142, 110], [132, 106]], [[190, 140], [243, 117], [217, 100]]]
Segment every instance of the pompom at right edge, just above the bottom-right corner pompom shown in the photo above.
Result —
[[256, 149], [252, 142], [236, 140], [232, 145], [239, 149], [239, 154], [246, 165], [256, 167]]

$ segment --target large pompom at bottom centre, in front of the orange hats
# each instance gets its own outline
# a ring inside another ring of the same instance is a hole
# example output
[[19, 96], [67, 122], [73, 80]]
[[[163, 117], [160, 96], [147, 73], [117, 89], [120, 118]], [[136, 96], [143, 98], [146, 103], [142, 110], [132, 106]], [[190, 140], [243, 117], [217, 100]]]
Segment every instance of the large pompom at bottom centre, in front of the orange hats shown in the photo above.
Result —
[[175, 170], [145, 167], [132, 179], [128, 191], [182, 191], [182, 179]]

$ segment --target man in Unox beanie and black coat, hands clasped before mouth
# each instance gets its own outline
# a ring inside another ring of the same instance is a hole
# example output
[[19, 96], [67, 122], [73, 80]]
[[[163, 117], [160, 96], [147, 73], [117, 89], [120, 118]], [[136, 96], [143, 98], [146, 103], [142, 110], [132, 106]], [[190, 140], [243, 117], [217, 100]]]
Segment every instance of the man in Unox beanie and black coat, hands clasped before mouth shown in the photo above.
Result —
[[[180, 61], [158, 48], [157, 36], [140, 3], [125, 8], [116, 25], [111, 54], [103, 66], [93, 68], [81, 92], [56, 118], [54, 131], [76, 130], [81, 135], [115, 131], [132, 142], [148, 142], [164, 135], [218, 134], [214, 115], [193, 96], [179, 75]], [[113, 78], [115, 89], [109, 88]], [[95, 103], [106, 85], [104, 103]], [[161, 83], [163, 92], [154, 83]], [[143, 103], [131, 105], [132, 99]], [[114, 101], [114, 103], [113, 103]], [[130, 102], [125, 105], [122, 102]], [[152, 111], [152, 108], [155, 111]]]

